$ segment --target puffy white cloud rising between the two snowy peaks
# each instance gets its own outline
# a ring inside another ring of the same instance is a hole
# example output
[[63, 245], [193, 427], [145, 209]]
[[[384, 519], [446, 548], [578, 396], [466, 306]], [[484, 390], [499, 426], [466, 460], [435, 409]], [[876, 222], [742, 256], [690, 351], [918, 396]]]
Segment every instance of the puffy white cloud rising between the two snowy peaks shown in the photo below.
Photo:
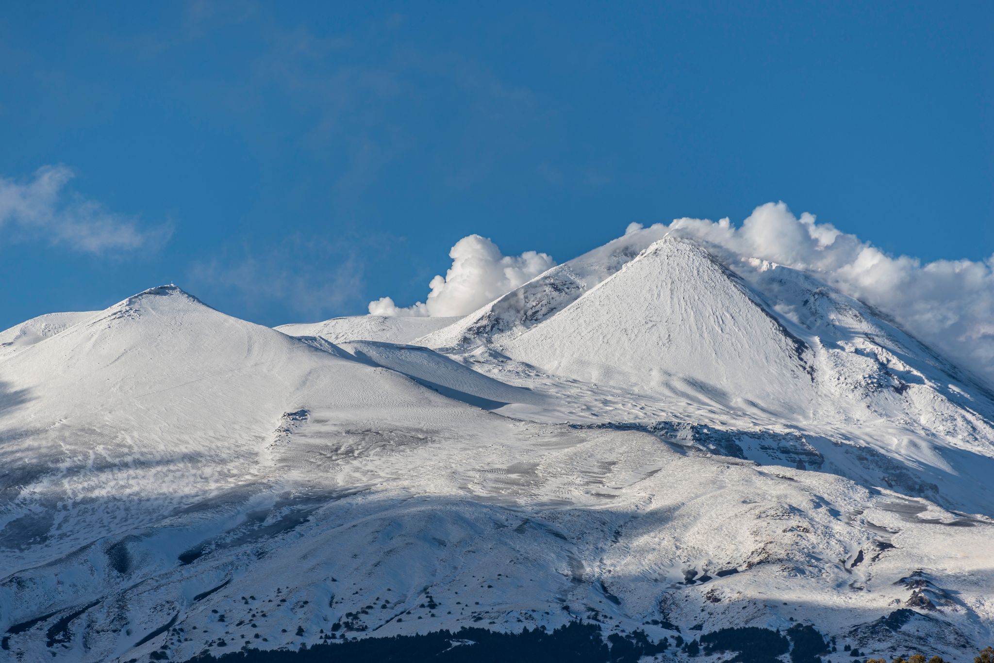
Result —
[[490, 240], [470, 235], [448, 252], [452, 266], [445, 276], [428, 283], [425, 301], [401, 308], [390, 297], [371, 301], [373, 315], [466, 315], [487, 302], [510, 292], [556, 264], [546, 253], [527, 250], [521, 255], [503, 255]]

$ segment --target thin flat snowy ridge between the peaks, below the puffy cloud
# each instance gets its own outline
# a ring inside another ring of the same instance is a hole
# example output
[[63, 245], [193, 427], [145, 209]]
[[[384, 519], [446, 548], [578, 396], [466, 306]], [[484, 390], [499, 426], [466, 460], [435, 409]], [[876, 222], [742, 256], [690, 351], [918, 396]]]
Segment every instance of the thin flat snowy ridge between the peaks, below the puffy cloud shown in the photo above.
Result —
[[415, 338], [450, 325], [458, 319], [353, 315], [331, 318], [324, 322], [280, 325], [276, 329], [290, 336], [321, 336], [332, 343], [344, 341], [411, 343]]

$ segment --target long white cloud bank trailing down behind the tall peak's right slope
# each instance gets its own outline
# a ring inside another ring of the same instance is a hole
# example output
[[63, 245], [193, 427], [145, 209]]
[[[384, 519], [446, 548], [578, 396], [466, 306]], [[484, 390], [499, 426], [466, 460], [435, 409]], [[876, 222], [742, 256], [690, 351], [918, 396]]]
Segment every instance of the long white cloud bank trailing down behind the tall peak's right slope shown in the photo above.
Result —
[[795, 217], [783, 203], [757, 207], [741, 227], [677, 219], [669, 229], [810, 271], [994, 382], [994, 255], [982, 262], [894, 257], [813, 215]]

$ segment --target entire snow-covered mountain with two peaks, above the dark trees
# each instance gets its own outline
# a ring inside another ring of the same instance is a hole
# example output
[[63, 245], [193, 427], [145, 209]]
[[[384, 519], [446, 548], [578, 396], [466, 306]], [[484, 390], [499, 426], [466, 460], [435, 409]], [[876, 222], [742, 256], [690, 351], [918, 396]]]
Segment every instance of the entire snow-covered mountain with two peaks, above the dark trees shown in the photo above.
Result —
[[981, 380], [658, 229], [460, 319], [152, 288], [0, 333], [0, 658], [583, 619], [956, 660], [994, 641], [991, 477]]

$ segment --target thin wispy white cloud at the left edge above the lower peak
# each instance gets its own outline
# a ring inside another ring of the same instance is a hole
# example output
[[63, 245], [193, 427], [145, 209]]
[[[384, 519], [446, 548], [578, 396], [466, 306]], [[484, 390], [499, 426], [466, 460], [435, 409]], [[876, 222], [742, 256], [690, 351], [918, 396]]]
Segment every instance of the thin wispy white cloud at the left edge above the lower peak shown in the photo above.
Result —
[[44, 166], [27, 181], [0, 177], [0, 228], [11, 228], [16, 240], [41, 240], [89, 253], [140, 249], [169, 239], [168, 226], [141, 229], [134, 217], [67, 193], [73, 176], [66, 166]]

